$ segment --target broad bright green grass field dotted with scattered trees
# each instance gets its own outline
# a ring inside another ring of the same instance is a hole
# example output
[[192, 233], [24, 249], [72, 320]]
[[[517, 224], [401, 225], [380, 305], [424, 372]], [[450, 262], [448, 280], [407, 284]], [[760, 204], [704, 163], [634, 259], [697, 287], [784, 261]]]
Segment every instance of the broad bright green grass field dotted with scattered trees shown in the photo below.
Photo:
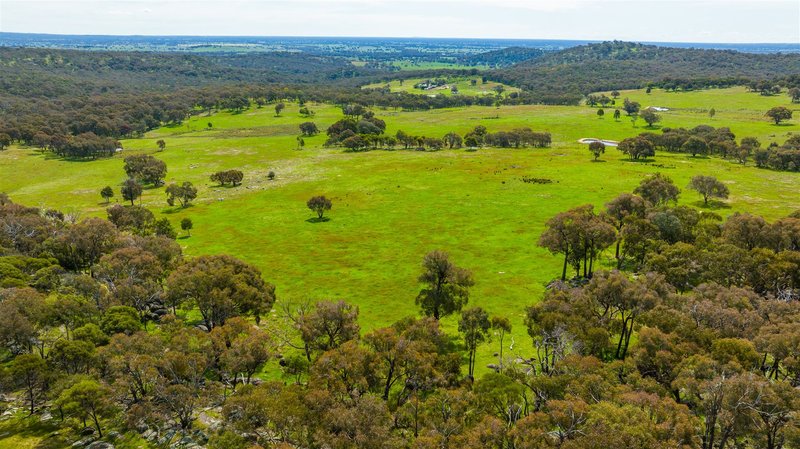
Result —
[[[623, 92], [622, 98], [626, 96], [645, 107], [670, 108], [662, 114], [663, 126], [729, 126], [737, 138], [756, 136], [764, 145], [800, 132], [797, 119], [775, 126], [763, 117], [772, 106], [791, 107], [786, 95], [762, 97], [734, 88]], [[713, 120], [706, 112], [711, 107], [717, 112]], [[332, 106], [311, 108], [320, 129], [341, 117]], [[324, 135], [306, 138], [305, 148], [298, 150], [297, 125], [307, 119], [297, 110], [297, 105], [288, 105], [281, 117], [271, 107], [194, 117], [124, 141], [123, 155], [152, 152], [167, 163], [168, 182], [191, 181], [199, 187], [196, 204], [185, 210], [167, 207], [161, 188], [147, 190], [142, 200], [176, 227], [181, 218], [192, 218], [192, 237], [179, 240], [187, 254], [228, 253], [257, 265], [277, 285], [279, 301], [331, 298], [357, 304], [365, 329], [417, 313], [420, 262], [438, 248], [473, 270], [476, 285], [470, 304], [509, 316], [515, 350], [527, 351], [525, 306], [540, 298], [544, 285], [560, 270], [558, 258], [536, 246], [545, 221], [581, 204], [600, 207], [650, 173], [664, 172], [680, 187], [697, 174], [717, 176], [731, 190], [727, 206], [717, 210], [722, 215], [750, 211], [776, 219], [800, 209], [798, 173], [665, 153], [637, 163], [614, 149], [594, 163], [579, 138], [619, 140], [647, 129], [641, 120], [634, 127], [624, 117], [615, 121], [606, 114], [600, 119], [596, 108], [587, 106], [376, 111], [391, 134], [403, 129], [440, 137], [449, 131], [463, 134], [479, 124], [490, 131], [529, 126], [551, 132], [554, 141], [549, 149], [435, 153], [343, 153], [323, 148]], [[158, 139], [166, 141], [163, 152], [155, 152]], [[122, 166], [122, 156], [75, 162], [12, 148], [0, 153], [0, 191], [28, 205], [102, 216], [106, 205], [99, 191], [111, 185], [118, 192], [125, 177]], [[209, 174], [228, 168], [244, 171], [242, 186], [210, 183]], [[277, 174], [274, 181], [266, 178], [270, 170]], [[526, 184], [523, 176], [553, 183]], [[333, 200], [328, 222], [309, 221], [312, 213], [305, 201], [318, 194]], [[701, 204], [686, 190], [680, 201]], [[605, 260], [610, 262], [610, 255]], [[444, 322], [455, 334], [455, 319]], [[483, 347], [479, 367], [492, 362], [495, 346]]]

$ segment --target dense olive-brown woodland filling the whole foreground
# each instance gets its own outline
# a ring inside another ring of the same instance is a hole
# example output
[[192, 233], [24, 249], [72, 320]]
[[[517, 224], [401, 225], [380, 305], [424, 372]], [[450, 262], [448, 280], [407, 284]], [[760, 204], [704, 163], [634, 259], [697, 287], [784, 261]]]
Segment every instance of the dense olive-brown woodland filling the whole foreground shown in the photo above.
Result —
[[[508, 318], [469, 306], [476, 280], [441, 251], [421, 266], [423, 316], [362, 332], [344, 301], [270, 313], [276, 288], [243, 261], [186, 259], [168, 238], [3, 197], [0, 387], [85, 442], [800, 447], [800, 216], [723, 221], [670, 206], [668, 185], [648, 178], [597, 214], [550, 220], [541, 242], [564, 240], [577, 275], [525, 309], [530, 338], [513, 345]], [[626, 271], [585, 268], [615, 242]], [[458, 336], [439, 324], [449, 314]], [[485, 345], [495, 360], [474, 378]], [[258, 379], [267, 364], [281, 380]]]

